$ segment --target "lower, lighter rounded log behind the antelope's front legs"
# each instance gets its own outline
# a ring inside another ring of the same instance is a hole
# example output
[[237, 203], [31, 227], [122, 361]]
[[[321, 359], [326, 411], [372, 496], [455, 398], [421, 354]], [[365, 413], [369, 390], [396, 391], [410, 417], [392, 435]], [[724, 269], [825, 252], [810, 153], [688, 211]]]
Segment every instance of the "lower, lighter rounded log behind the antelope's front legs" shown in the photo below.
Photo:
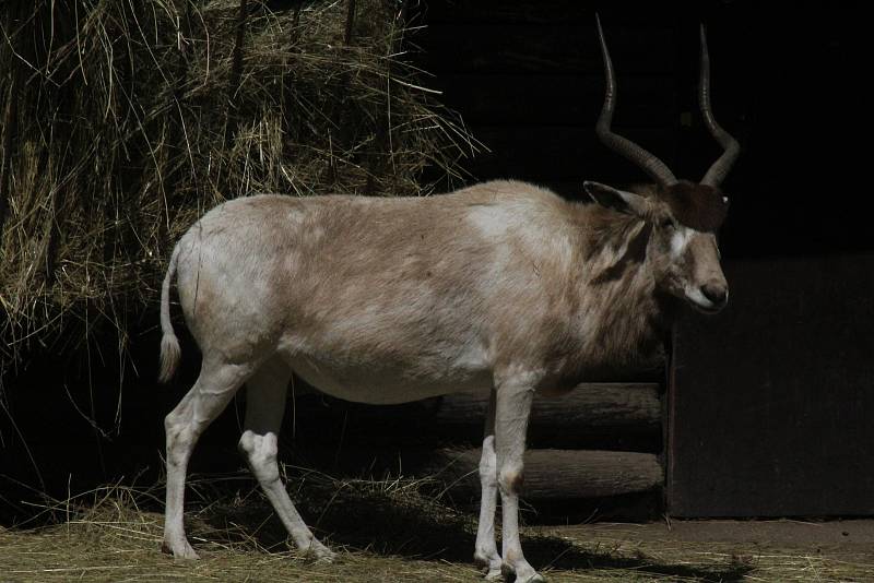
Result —
[[[448, 491], [471, 496], [480, 491], [481, 450], [444, 451], [437, 474]], [[525, 452], [525, 499], [601, 498], [646, 492], [664, 485], [659, 457], [651, 453], [591, 450], [529, 450]]]

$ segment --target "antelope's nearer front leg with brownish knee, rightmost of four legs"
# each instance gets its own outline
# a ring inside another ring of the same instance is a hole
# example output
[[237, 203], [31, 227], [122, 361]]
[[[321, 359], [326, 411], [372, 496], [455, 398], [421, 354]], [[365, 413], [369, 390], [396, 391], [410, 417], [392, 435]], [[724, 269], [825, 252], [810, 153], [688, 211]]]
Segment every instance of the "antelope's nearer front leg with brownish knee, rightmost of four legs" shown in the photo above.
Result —
[[496, 384], [495, 447], [504, 519], [501, 571], [508, 579], [516, 574], [517, 583], [544, 581], [525, 560], [519, 539], [519, 490], [524, 469], [528, 418], [534, 398], [534, 376], [511, 374]]

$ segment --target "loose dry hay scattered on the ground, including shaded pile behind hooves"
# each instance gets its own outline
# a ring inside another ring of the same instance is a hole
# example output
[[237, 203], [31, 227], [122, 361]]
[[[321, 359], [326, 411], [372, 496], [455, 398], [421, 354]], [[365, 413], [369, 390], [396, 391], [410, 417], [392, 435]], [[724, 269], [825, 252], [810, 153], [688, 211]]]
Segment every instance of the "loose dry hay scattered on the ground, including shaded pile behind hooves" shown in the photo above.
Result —
[[[200, 561], [160, 551], [160, 487], [99, 488], [47, 501], [40, 526], [0, 530], [4, 581], [479, 581], [474, 516], [423, 496], [421, 480], [338, 480], [295, 468], [290, 491], [334, 549], [332, 564], [291, 549], [243, 475], [191, 480], [186, 514]], [[45, 524], [47, 516], [56, 520]], [[527, 527], [525, 555], [550, 581], [866, 581], [842, 555], [737, 543], [634, 540], [610, 531]], [[857, 560], [858, 559], [858, 560]]]

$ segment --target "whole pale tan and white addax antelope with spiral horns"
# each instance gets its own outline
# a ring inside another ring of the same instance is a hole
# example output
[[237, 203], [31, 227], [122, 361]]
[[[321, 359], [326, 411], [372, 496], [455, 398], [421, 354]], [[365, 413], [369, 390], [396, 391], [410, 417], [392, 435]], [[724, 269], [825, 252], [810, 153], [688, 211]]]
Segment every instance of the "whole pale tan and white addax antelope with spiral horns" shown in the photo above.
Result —
[[611, 131], [616, 82], [600, 23], [598, 31], [606, 74], [598, 135], [654, 185], [629, 192], [586, 182], [597, 204], [515, 181], [429, 198], [253, 195], [213, 209], [179, 240], [162, 289], [161, 379], [179, 358], [174, 274], [203, 361], [165, 421], [165, 550], [197, 557], [182, 527], [186, 467], [245, 383], [240, 450], [294, 543], [333, 556], [295, 510], [276, 465], [295, 373], [363, 403], [491, 393], [474, 558], [488, 578], [542, 579], [522, 555], [518, 523], [532, 398], [658, 356], [676, 305], [717, 312], [729, 298], [717, 247], [729, 204], [719, 185], [739, 145], [711, 112], [704, 28], [700, 109], [724, 152], [700, 182], [677, 180]]

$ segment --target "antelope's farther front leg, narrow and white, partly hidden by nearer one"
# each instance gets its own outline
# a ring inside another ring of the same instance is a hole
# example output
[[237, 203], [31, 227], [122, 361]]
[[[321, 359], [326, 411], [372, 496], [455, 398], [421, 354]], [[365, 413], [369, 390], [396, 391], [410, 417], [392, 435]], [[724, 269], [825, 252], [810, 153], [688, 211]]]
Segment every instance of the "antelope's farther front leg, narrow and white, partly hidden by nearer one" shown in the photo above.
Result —
[[485, 413], [485, 436], [483, 453], [480, 459], [480, 522], [476, 526], [476, 551], [473, 559], [476, 564], [486, 569], [487, 580], [500, 579], [501, 560], [495, 544], [495, 509], [498, 498], [497, 455], [495, 453], [495, 390], [488, 398]]

